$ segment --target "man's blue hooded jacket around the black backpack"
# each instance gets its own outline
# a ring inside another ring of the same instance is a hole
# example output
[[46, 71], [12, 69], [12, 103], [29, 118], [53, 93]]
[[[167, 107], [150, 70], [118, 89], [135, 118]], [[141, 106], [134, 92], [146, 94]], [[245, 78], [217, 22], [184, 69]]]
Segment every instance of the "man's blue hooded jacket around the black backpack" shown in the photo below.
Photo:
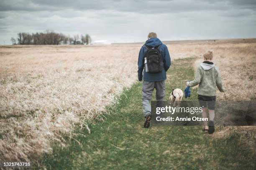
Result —
[[[144, 69], [144, 55], [146, 54], [147, 49], [143, 45], [141, 47], [141, 50], [138, 56], [138, 80], [141, 81], [142, 77], [143, 77], [143, 80], [146, 80], [146, 81], [166, 80], [166, 71], [171, 66], [171, 57], [169, 55], [169, 51], [166, 45], [164, 45], [157, 37], [150, 38], [149, 40], [146, 41], [145, 44], [148, 45], [149, 47], [156, 47], [160, 45], [159, 50], [164, 59], [164, 69], [161, 72], [157, 72], [157, 73], [146, 72], [146, 70]], [[142, 76], [142, 72], [143, 72], [143, 76]]]

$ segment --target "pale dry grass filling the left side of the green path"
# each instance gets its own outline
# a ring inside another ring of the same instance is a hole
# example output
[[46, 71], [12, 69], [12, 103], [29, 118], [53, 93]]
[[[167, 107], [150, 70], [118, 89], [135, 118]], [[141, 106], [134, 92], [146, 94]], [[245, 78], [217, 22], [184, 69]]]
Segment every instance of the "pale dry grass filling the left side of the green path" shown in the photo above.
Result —
[[138, 48], [0, 48], [0, 160], [33, 160], [64, 145], [136, 80]]

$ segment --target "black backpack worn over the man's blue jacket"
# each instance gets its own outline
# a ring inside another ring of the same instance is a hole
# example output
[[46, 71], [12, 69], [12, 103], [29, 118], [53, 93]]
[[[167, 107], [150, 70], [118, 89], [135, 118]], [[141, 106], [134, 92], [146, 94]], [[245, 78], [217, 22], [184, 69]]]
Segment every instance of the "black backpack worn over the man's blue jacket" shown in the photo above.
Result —
[[156, 47], [149, 47], [148, 45], [144, 44], [146, 49], [148, 50], [144, 57], [147, 59], [148, 65], [148, 72], [156, 73], [161, 72], [164, 68], [163, 57], [159, 50], [159, 46]]

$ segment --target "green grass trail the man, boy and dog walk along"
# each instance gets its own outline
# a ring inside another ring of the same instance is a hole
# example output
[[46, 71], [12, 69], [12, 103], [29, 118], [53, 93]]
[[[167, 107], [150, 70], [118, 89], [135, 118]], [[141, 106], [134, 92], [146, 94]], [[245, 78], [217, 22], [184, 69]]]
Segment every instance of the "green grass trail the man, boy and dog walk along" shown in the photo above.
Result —
[[[166, 100], [172, 88], [184, 90], [185, 80], [192, 80], [194, 60], [172, 62], [166, 80]], [[77, 131], [85, 137], [75, 137], [66, 148], [54, 147], [53, 154], [45, 155], [41, 164], [54, 170], [253, 169], [255, 158], [248, 157], [250, 151], [240, 146], [236, 136], [213, 139], [199, 126], [143, 128], [141, 87], [142, 83], [137, 82], [125, 90], [118, 102], [108, 108], [111, 114], [105, 121], [89, 125], [91, 134], [87, 130]], [[197, 100], [196, 89], [191, 94], [186, 100]]]

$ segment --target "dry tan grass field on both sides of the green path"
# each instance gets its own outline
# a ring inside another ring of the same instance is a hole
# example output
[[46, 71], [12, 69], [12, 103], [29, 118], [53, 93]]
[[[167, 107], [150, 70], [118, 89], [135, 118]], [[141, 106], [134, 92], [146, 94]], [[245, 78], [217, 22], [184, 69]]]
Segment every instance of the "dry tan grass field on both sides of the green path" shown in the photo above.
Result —
[[[255, 100], [256, 41], [166, 44], [172, 60], [198, 57], [191, 65], [213, 50], [228, 100]], [[141, 45], [0, 47], [0, 160], [38, 158], [99, 119], [136, 82]]]

